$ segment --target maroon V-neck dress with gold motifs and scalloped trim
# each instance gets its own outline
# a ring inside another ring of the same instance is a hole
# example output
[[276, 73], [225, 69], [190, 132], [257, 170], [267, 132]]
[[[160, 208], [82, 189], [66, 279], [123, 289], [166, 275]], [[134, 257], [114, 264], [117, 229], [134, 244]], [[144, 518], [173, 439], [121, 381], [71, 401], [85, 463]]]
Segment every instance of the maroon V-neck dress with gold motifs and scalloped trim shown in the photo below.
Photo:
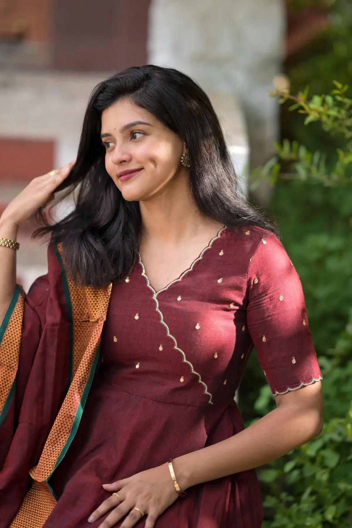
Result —
[[[58, 503], [44, 527], [97, 527], [105, 516], [87, 518], [110, 495], [103, 483], [241, 431], [234, 394], [253, 344], [273, 394], [321, 379], [301, 282], [274, 234], [223, 228], [157, 292], [137, 261], [113, 284], [100, 364], [50, 481]], [[259, 528], [262, 520], [251, 469], [188, 488], [155, 527]]]

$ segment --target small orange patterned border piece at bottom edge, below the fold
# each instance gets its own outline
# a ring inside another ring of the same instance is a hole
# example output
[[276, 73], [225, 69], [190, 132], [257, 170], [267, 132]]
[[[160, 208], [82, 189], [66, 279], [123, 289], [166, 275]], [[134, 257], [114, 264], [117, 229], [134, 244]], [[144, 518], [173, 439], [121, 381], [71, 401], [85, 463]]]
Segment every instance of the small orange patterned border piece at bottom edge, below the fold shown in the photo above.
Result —
[[45, 482], [33, 482], [10, 528], [41, 528], [56, 501]]

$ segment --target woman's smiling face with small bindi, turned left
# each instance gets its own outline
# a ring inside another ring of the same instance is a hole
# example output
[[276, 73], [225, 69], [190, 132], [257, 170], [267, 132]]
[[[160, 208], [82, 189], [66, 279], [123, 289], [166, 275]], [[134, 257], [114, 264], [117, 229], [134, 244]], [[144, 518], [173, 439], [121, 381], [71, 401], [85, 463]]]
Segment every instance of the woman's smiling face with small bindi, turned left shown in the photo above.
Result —
[[[101, 136], [107, 172], [125, 200], [149, 200], [172, 178], [185, 177], [180, 163], [185, 150], [182, 139], [128, 99], [120, 99], [102, 112]], [[121, 175], [130, 169], [141, 170], [128, 179]]]

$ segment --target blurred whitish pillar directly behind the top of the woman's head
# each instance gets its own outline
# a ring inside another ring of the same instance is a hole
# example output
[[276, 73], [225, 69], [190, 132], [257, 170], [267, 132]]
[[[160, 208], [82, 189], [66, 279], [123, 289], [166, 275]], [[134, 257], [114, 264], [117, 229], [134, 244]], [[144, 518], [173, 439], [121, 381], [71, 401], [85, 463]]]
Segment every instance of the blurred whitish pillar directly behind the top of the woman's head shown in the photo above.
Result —
[[243, 111], [252, 167], [267, 161], [278, 136], [278, 105], [268, 91], [281, 71], [283, 38], [281, 0], [151, 0], [149, 7], [148, 61], [196, 79], [216, 111], [226, 97], [235, 160], [247, 145]]

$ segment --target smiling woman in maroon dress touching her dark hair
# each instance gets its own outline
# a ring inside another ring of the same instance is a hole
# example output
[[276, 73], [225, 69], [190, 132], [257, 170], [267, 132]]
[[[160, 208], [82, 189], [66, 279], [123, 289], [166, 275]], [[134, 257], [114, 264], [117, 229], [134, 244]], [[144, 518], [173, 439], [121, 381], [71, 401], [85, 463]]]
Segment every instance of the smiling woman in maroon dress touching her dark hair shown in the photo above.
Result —
[[[25, 295], [18, 225], [75, 187]], [[320, 433], [322, 377], [299, 276], [202, 89], [155, 65], [98, 84], [77, 161], [34, 178], [0, 237], [2, 526], [261, 526], [254, 468]], [[244, 429], [253, 344], [277, 408]]]

